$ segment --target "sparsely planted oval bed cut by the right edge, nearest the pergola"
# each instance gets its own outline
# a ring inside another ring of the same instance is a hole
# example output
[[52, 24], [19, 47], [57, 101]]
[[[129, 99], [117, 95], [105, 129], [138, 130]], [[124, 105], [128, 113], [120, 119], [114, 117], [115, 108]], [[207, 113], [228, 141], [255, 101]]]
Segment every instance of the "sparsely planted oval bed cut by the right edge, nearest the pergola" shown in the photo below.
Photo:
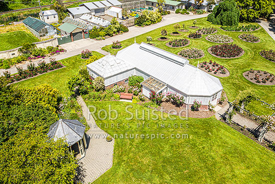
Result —
[[249, 70], [244, 72], [243, 77], [248, 81], [258, 85], [275, 85], [275, 76], [266, 71]]

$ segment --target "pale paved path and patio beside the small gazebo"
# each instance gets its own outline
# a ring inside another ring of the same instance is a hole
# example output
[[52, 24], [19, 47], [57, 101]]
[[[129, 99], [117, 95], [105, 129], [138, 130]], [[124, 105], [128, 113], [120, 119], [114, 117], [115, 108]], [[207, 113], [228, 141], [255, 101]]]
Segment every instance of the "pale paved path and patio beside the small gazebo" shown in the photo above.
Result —
[[77, 103], [81, 106], [82, 114], [90, 127], [86, 132], [88, 137], [86, 153], [85, 156], [79, 160], [79, 162], [83, 163], [83, 168], [85, 169], [85, 183], [89, 183], [111, 168], [114, 139], [110, 142], [106, 141], [108, 134], [96, 126], [81, 96], [77, 97]]

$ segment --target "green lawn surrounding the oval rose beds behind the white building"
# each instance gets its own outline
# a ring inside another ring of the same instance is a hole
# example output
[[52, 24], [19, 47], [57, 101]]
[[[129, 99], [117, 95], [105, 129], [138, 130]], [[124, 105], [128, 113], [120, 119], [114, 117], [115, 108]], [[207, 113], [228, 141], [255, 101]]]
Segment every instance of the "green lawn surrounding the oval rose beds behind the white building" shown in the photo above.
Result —
[[[181, 25], [183, 22], [180, 22], [179, 24]], [[192, 26], [193, 20], [190, 21], [184, 21], [185, 29], [190, 30], [190, 32], [195, 32], [196, 29], [189, 29], [189, 26]], [[240, 25], [245, 25], [246, 23], [240, 23]], [[216, 45], [212, 42], [206, 41], [205, 37], [206, 35], [203, 35], [201, 39], [189, 39], [186, 36], [190, 32], [187, 33], [181, 33], [183, 36], [177, 36], [177, 37], [172, 37], [172, 36], [167, 36], [170, 39], [175, 39], [175, 38], [187, 38], [190, 40], [191, 44], [187, 47], [184, 48], [199, 48], [204, 50], [205, 56], [201, 59], [198, 60], [189, 60], [190, 64], [196, 66], [197, 61], [216, 61], [218, 64], [224, 65], [230, 72], [229, 77], [225, 78], [220, 78], [220, 81], [222, 83], [222, 86], [229, 98], [230, 101], [234, 100], [236, 95], [238, 94], [238, 91], [247, 89], [247, 88], [253, 88], [256, 90], [258, 95], [261, 97], [261, 100], [267, 102], [267, 103], [272, 103], [274, 102], [274, 94], [275, 94], [275, 86], [263, 86], [263, 85], [256, 85], [248, 80], [246, 80], [243, 76], [242, 73], [250, 70], [250, 68], [253, 68], [255, 70], [266, 70], [267, 72], [270, 72], [272, 74], [275, 74], [275, 63], [268, 61], [264, 58], [262, 58], [259, 55], [259, 52], [262, 49], [274, 49], [275, 48], [275, 41], [272, 40], [272, 38], [261, 28], [258, 31], [252, 32], [254, 35], [258, 36], [260, 38], [260, 43], [253, 44], [253, 43], [247, 43], [238, 38], [238, 35], [240, 35], [243, 32], [225, 32], [219, 29], [220, 26], [217, 25], [212, 25], [209, 22], [206, 21], [206, 18], [201, 18], [197, 19], [197, 24], [196, 26], [203, 28], [203, 27], [214, 27], [217, 28], [218, 32], [216, 34], [224, 34], [224, 35], [229, 35], [230, 37], [233, 38], [234, 44], [237, 44], [240, 46], [244, 51], [244, 55], [240, 58], [236, 59], [219, 59], [216, 57], [211, 56], [208, 52], [207, 49], [211, 47], [212, 45]], [[146, 37], [151, 36], [153, 41], [150, 43], [156, 44], [156, 47], [166, 50], [168, 52], [177, 54], [179, 51], [182, 50], [182, 48], [169, 48], [165, 45], [166, 42], [161, 42], [157, 41], [156, 39], [159, 38], [160, 31], [162, 29], [167, 29], [168, 33], [173, 32], [172, 25], [164, 26], [162, 28], [152, 30], [148, 33], [142, 34], [140, 36], [135, 37], [137, 43], [145, 42], [146, 43]], [[125, 48], [131, 44], [134, 43], [134, 38], [130, 38], [128, 40], [122, 41], [122, 48]], [[102, 48], [105, 51], [110, 51], [111, 54], [115, 54], [117, 50], [111, 49], [111, 46], [105, 46]], [[148, 61], [149, 62], [149, 61]], [[260, 108], [261, 110], [256, 110], [256, 109], [251, 109], [253, 111], [260, 111], [263, 112], [265, 110], [265, 107], [263, 106], [258, 106], [257, 108]], [[269, 111], [267, 110], [266, 113]]]

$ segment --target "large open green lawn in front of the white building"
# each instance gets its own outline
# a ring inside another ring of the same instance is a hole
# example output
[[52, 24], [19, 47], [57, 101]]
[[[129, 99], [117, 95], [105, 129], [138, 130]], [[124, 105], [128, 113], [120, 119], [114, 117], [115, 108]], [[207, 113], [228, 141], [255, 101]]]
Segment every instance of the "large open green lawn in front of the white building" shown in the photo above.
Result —
[[[113, 165], [94, 183], [271, 183], [274, 180], [275, 154], [214, 117], [203, 120], [189, 118], [187, 121], [176, 116], [174, 121], [147, 120], [145, 111], [144, 121], [135, 118], [127, 121], [125, 117], [130, 116], [124, 110], [127, 105], [133, 106], [131, 112], [137, 109], [139, 117], [146, 108], [126, 102], [86, 104], [96, 106], [97, 112], [99, 109], [108, 112], [108, 105], [118, 111], [116, 120], [96, 120], [97, 125], [102, 123], [102, 129], [112, 136], [124, 134], [123, 130], [132, 130], [127, 131], [128, 134], [158, 131], [165, 134], [164, 139], [115, 139]], [[136, 124], [143, 122], [149, 123], [150, 128], [136, 131]], [[118, 123], [120, 128], [116, 127]], [[130, 128], [127, 128], [127, 123]], [[181, 134], [180, 128], [160, 129], [156, 128], [157, 123], [176, 123], [178, 126], [183, 123], [184, 127], [187, 123], [187, 131], [183, 133], [189, 138], [167, 139], [166, 136], [172, 133]], [[105, 125], [108, 128], [104, 128]]]

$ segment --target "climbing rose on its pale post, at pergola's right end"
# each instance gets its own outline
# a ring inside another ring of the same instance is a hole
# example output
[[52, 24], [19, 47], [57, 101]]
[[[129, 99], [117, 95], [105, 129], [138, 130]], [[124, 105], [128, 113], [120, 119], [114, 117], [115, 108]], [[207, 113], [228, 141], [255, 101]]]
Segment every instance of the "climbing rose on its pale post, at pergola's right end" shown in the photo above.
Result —
[[261, 123], [261, 130], [258, 136], [258, 141], [262, 142], [264, 134], [268, 130], [275, 130], [275, 116], [261, 115], [259, 116], [259, 122]]

